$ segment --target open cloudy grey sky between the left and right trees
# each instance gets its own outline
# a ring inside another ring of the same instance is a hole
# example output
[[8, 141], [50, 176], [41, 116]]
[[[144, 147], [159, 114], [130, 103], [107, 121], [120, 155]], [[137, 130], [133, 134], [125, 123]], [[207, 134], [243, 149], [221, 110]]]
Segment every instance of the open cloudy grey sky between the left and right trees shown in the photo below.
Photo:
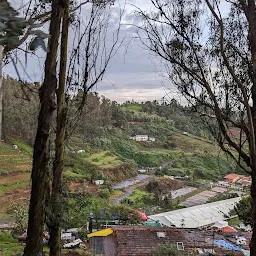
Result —
[[149, 0], [134, 0], [126, 3], [121, 36], [126, 42], [112, 59], [98, 91], [106, 97], [124, 102], [126, 100], [160, 100], [169, 91], [168, 81], [163, 79], [164, 68], [159, 60], [133, 33], [133, 28], [125, 23], [136, 22], [133, 18], [134, 7], [150, 8]]

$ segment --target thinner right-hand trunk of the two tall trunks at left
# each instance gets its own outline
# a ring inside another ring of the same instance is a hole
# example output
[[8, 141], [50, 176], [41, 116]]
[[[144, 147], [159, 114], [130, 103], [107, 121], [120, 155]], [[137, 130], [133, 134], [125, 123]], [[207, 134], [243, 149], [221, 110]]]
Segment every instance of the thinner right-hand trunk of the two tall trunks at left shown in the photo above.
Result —
[[64, 141], [67, 119], [67, 106], [65, 101], [65, 81], [67, 68], [69, 27], [69, 0], [65, 3], [61, 34], [61, 57], [59, 88], [57, 90], [57, 131], [55, 140], [55, 160], [53, 163], [53, 182], [51, 194], [52, 223], [50, 223], [50, 256], [60, 256], [61, 253], [61, 219], [62, 219], [62, 173]]

